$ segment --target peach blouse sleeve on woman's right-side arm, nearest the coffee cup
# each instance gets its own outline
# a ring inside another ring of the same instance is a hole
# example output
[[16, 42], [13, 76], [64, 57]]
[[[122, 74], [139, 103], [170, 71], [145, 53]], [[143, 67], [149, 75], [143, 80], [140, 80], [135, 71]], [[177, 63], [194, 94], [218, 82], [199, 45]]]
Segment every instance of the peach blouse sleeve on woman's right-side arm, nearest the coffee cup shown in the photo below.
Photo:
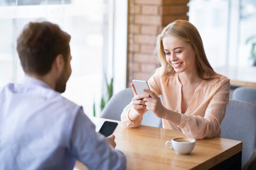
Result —
[[218, 136], [220, 123], [224, 119], [226, 105], [229, 103], [229, 79], [226, 78], [219, 84], [219, 90], [209, 102], [204, 117], [181, 114], [181, 122], [178, 127], [182, 129], [184, 135], [194, 139], [220, 137]]

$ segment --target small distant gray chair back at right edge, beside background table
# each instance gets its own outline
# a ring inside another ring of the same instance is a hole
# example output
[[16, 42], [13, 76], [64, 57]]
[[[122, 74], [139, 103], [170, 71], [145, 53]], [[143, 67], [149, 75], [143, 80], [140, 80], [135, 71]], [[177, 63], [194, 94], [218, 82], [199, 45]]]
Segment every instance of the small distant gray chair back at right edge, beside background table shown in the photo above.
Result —
[[233, 92], [234, 100], [240, 100], [256, 105], [256, 88], [255, 87], [238, 87]]

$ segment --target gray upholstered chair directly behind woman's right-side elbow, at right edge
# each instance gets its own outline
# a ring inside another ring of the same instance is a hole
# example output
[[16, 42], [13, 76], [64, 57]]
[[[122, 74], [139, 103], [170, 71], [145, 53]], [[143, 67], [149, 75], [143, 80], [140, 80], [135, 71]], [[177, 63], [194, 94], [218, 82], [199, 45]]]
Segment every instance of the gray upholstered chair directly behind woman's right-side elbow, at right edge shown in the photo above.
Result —
[[229, 100], [220, 127], [222, 138], [243, 142], [242, 169], [256, 170], [256, 106]]

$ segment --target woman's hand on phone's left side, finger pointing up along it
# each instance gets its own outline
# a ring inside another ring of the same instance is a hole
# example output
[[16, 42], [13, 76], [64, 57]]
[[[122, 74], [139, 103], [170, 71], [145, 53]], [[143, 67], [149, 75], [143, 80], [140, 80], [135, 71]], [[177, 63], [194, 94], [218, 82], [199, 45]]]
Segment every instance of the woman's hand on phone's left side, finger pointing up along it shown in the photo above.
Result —
[[137, 92], [135, 90], [133, 83], [131, 83], [131, 87], [134, 94], [131, 105], [137, 111], [138, 114], [143, 115], [147, 111], [146, 104], [145, 104], [145, 101], [143, 101], [143, 99], [146, 97], [149, 97], [149, 94], [137, 95]]

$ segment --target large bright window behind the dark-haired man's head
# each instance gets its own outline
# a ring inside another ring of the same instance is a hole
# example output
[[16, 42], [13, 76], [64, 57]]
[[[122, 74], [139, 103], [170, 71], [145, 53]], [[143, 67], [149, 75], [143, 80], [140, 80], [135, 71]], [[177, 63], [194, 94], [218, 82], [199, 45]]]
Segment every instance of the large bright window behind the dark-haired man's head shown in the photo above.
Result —
[[[115, 15], [118, 12], [115, 7], [119, 5], [124, 8], [125, 2], [120, 4], [115, 0], [0, 0], [0, 86], [18, 82], [24, 76], [16, 51], [16, 39], [23, 27], [38, 18], [48, 20], [58, 24], [72, 36], [70, 48], [73, 72], [63, 95], [82, 105], [86, 114], [92, 115], [93, 102], [96, 102], [96, 106], [100, 105], [102, 89], [104, 91], [102, 86], [105, 85], [104, 74], [110, 79], [117, 65], [113, 63], [116, 53], [116, 33], [113, 30], [118, 26], [115, 24]], [[126, 18], [123, 20], [126, 21]], [[126, 39], [122, 42], [126, 42]], [[121, 44], [123, 43], [118, 45]], [[126, 61], [126, 56], [122, 59]], [[116, 69], [119, 69], [118, 66]], [[118, 77], [114, 83], [120, 81], [125, 84]], [[99, 114], [100, 110], [96, 111]]]

